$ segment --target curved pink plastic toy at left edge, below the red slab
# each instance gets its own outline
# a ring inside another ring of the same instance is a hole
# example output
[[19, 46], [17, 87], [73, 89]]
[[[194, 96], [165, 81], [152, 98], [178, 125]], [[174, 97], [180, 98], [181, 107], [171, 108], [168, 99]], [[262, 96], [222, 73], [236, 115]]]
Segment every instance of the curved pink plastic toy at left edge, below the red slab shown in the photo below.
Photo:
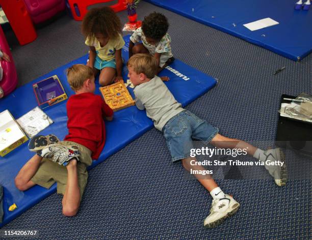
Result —
[[0, 81], [0, 98], [2, 98], [15, 89], [17, 85], [17, 74], [8, 42], [1, 27], [0, 48], [3, 52], [7, 53], [11, 59], [11, 62], [0, 61], [1, 67], [3, 69], [3, 77]]

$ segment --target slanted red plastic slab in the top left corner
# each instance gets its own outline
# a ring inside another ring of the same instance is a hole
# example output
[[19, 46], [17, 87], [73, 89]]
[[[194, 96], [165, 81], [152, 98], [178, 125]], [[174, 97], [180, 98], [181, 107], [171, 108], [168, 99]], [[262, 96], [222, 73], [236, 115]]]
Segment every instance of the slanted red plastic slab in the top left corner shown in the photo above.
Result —
[[34, 24], [22, 0], [0, 0], [0, 5], [20, 45], [28, 44], [37, 38]]

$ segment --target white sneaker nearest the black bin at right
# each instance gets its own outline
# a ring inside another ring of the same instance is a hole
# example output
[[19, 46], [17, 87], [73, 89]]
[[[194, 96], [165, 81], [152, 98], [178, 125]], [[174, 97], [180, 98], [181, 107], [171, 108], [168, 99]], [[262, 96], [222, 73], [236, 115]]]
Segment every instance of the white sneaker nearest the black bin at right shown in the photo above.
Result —
[[[285, 155], [280, 148], [269, 149], [264, 152], [266, 156], [265, 168], [269, 171], [270, 175], [274, 177], [274, 181], [277, 186], [285, 186], [287, 183], [287, 166], [285, 163]], [[267, 165], [267, 161], [276, 163], [276, 161], [283, 162], [283, 166], [280, 165]]]

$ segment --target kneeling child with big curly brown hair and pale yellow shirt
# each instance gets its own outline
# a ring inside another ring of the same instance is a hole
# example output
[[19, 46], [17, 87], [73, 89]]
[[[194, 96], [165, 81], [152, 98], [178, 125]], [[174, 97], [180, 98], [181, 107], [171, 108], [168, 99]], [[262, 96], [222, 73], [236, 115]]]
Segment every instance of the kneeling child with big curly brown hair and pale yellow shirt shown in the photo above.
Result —
[[82, 33], [90, 47], [87, 65], [99, 72], [99, 84], [106, 86], [122, 80], [121, 22], [110, 7], [93, 8], [84, 17]]

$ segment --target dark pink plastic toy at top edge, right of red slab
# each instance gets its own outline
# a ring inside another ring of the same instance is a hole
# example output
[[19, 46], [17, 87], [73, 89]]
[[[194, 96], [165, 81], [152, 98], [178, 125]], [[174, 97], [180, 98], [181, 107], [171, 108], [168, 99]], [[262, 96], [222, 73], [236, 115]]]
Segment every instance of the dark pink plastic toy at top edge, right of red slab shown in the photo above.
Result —
[[24, 3], [35, 24], [65, 10], [65, 0], [24, 0]]

